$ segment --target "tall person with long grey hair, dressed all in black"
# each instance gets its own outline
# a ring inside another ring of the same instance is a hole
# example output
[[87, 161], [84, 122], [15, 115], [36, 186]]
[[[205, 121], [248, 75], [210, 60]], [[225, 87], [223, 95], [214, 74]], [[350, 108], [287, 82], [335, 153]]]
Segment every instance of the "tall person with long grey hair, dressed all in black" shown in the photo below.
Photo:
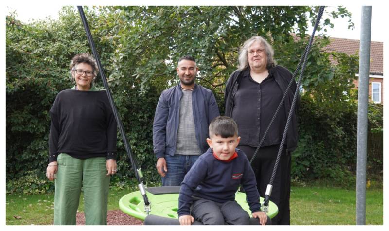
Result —
[[[238, 149], [247, 155], [248, 160], [251, 160], [264, 136], [291, 79], [292, 73], [276, 64], [273, 48], [263, 37], [253, 36], [244, 42], [239, 53], [239, 68], [227, 80], [224, 99], [225, 115], [238, 124], [241, 137]], [[296, 82], [293, 81], [281, 111], [251, 164], [261, 196], [265, 196], [266, 186], [273, 172], [295, 90]], [[300, 98], [296, 111], [299, 100]], [[290, 224], [291, 152], [296, 149], [297, 140], [297, 119], [294, 113], [270, 196], [270, 200], [279, 209], [277, 216], [272, 219], [272, 224]]]

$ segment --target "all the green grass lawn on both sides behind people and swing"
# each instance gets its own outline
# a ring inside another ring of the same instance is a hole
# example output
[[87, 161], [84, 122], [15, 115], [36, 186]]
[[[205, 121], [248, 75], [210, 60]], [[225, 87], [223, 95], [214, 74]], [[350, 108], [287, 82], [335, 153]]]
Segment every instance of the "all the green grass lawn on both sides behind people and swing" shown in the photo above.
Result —
[[[118, 202], [130, 191], [110, 190], [108, 210], [119, 209]], [[82, 196], [82, 195], [81, 195]], [[336, 187], [292, 186], [291, 225], [355, 225], [355, 190]], [[6, 195], [6, 225], [53, 224], [54, 195]], [[84, 209], [80, 200], [78, 210]], [[13, 216], [20, 216], [15, 219]], [[366, 192], [366, 224], [383, 224], [383, 190]]]

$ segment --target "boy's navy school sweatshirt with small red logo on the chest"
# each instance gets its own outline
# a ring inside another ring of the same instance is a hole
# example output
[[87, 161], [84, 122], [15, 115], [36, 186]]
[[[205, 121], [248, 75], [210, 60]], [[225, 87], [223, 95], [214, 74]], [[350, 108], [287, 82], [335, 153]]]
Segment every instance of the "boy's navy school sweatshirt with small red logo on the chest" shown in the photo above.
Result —
[[185, 175], [178, 197], [178, 216], [189, 215], [192, 196], [224, 203], [235, 200], [242, 184], [252, 213], [260, 211], [259, 193], [254, 172], [243, 151], [236, 149], [238, 157], [230, 162], [217, 160], [213, 150], [201, 155]]

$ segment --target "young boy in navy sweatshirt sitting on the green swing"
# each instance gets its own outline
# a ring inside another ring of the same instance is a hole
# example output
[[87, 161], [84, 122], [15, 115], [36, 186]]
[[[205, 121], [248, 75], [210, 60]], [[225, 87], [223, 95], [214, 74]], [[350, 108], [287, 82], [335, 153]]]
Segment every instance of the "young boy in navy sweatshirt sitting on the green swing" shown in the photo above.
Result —
[[191, 225], [195, 219], [204, 225], [248, 225], [249, 215], [235, 201], [242, 184], [252, 217], [266, 224], [261, 212], [256, 180], [239, 144], [238, 126], [230, 117], [218, 116], [209, 126], [210, 148], [201, 155], [181, 183], [178, 197], [178, 220]]

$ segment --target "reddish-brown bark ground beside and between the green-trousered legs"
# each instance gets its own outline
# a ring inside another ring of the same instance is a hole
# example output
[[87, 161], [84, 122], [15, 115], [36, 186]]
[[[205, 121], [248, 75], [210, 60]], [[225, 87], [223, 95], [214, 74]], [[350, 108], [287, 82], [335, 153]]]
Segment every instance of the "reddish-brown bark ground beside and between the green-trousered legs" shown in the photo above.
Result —
[[[77, 213], [77, 225], [85, 225], [84, 213]], [[107, 214], [107, 225], [143, 225], [143, 221], [123, 213], [121, 210], [109, 210]]]

